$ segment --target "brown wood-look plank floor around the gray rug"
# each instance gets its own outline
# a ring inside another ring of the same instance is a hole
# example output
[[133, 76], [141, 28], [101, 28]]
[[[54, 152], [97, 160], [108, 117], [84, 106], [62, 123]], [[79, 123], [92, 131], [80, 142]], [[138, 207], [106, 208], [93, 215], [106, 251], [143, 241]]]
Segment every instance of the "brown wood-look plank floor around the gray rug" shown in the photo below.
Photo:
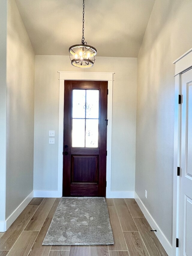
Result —
[[33, 198], [0, 233], [0, 256], [167, 256], [134, 199], [106, 199], [114, 245], [42, 245], [59, 198]]

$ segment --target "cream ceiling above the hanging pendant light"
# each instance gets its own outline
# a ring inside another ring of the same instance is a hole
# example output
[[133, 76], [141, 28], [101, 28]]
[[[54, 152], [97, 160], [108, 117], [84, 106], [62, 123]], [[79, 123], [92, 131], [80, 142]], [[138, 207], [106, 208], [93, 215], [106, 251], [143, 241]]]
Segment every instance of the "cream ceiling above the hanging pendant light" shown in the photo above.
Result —
[[[98, 56], [137, 57], [155, 0], [85, 0], [85, 41]], [[38, 55], [68, 55], [82, 38], [82, 0], [16, 0]]]

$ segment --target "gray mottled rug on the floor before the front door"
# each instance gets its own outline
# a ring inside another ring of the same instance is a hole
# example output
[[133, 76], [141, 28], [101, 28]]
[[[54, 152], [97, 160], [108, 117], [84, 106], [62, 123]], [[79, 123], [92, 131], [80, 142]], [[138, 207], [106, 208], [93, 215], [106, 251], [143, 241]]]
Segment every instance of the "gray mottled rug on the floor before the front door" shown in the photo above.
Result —
[[62, 197], [43, 245], [114, 244], [104, 197]]

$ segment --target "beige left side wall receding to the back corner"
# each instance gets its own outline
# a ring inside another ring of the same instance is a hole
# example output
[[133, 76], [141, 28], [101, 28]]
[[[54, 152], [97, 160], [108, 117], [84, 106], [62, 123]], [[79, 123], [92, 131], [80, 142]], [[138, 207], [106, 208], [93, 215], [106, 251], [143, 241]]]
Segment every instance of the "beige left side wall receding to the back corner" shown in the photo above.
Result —
[[34, 68], [28, 34], [8, 0], [6, 218], [33, 190]]

